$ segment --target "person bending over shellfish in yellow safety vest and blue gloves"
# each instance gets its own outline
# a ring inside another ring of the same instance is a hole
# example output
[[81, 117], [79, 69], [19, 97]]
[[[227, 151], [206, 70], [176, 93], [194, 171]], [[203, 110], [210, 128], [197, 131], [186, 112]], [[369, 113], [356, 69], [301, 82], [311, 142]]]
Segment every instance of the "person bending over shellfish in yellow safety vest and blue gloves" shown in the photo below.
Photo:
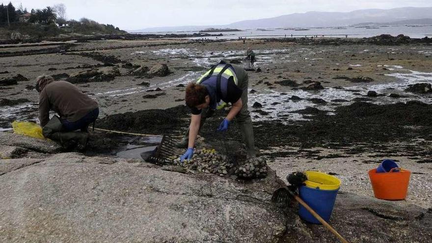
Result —
[[247, 88], [246, 71], [240, 66], [224, 61], [214, 65], [196, 83], [188, 84], [185, 101], [192, 111], [192, 116], [188, 131], [178, 143], [178, 147], [188, 147], [185, 154], [180, 157], [182, 162], [192, 158], [195, 139], [205, 119], [213, 115], [216, 109], [223, 108], [226, 103], [231, 103], [232, 108], [217, 131], [226, 131], [235, 117], [246, 144], [247, 157], [256, 156], [252, 119], [247, 109]]

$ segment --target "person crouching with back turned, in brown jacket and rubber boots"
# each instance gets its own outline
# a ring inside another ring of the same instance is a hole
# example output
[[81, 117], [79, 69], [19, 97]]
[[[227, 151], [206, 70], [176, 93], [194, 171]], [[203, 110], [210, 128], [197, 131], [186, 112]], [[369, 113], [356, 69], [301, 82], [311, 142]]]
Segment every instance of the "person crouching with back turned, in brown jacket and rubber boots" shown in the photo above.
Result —
[[[88, 125], [99, 116], [98, 103], [67, 81], [54, 81], [50, 76], [36, 80], [39, 92], [39, 120], [42, 134], [63, 147], [84, 150], [88, 140]], [[58, 114], [50, 120], [50, 110]], [[78, 132], [77, 130], [80, 130]]]

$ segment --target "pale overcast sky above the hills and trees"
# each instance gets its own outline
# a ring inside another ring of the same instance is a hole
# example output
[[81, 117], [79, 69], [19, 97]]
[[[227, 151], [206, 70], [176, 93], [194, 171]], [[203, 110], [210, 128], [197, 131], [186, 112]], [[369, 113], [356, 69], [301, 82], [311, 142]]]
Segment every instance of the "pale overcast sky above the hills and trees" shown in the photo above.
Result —
[[[125, 30], [146, 27], [224, 25], [307, 11], [431, 7], [432, 0], [11, 0], [28, 10], [63, 3], [68, 18], [86, 17]], [[3, 4], [9, 1], [0, 0]], [[217, 3], [219, 2], [219, 3]], [[330, 3], [331, 2], [331, 3]]]

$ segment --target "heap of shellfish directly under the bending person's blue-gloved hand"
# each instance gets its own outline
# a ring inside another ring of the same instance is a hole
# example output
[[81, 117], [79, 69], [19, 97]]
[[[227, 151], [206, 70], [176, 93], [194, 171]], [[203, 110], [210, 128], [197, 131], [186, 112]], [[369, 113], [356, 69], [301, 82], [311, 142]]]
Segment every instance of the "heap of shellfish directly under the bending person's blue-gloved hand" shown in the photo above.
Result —
[[224, 155], [220, 155], [215, 149], [198, 149], [195, 151], [191, 160], [180, 162], [177, 158], [173, 160], [175, 165], [181, 165], [189, 169], [212, 174], [232, 174], [233, 165]]

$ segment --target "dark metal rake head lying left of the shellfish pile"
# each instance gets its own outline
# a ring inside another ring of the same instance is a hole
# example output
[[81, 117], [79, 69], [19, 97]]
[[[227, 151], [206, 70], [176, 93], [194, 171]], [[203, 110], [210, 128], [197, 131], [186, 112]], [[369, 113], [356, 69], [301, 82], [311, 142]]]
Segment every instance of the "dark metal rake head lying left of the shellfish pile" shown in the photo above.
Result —
[[172, 164], [173, 159], [181, 153], [176, 146], [176, 140], [168, 135], [163, 135], [161, 143], [155, 150], [150, 152], [150, 155], [141, 154], [141, 158], [150, 163], [164, 165]]

